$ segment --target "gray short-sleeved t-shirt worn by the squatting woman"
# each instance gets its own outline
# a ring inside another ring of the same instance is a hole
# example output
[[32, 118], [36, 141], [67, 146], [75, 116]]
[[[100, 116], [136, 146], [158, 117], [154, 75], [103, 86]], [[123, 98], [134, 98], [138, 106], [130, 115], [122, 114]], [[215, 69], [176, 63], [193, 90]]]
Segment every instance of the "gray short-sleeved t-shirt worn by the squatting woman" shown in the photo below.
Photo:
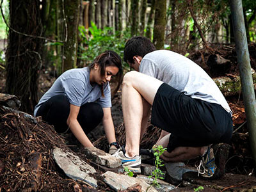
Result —
[[70, 104], [82, 106], [86, 102], [98, 102], [102, 108], [111, 108], [111, 91], [109, 83], [104, 86], [104, 97], [99, 84], [90, 84], [90, 68], [73, 68], [61, 74], [35, 106], [38, 108], [55, 95], [67, 95]]

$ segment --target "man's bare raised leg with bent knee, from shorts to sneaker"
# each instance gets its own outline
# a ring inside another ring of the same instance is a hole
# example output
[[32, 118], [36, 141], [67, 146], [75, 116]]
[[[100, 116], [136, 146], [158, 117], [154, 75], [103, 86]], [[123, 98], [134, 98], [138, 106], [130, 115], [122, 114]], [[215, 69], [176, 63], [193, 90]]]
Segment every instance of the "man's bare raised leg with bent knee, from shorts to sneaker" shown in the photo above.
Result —
[[139, 155], [141, 124], [143, 120], [143, 98], [152, 106], [161, 84], [163, 84], [162, 81], [136, 71], [128, 72], [124, 76], [122, 109], [126, 132], [125, 155], [128, 157]]

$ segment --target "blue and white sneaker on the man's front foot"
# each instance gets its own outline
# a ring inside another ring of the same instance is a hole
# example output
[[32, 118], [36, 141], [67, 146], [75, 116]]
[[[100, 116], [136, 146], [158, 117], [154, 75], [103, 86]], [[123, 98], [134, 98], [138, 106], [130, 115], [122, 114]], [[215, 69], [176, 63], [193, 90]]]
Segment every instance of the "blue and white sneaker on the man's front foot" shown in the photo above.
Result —
[[121, 159], [122, 166], [127, 167], [133, 173], [141, 173], [140, 166], [141, 166], [141, 157], [136, 155], [132, 158], [126, 157], [122, 148], [119, 148], [115, 154], [112, 155], [113, 157], [117, 157]]

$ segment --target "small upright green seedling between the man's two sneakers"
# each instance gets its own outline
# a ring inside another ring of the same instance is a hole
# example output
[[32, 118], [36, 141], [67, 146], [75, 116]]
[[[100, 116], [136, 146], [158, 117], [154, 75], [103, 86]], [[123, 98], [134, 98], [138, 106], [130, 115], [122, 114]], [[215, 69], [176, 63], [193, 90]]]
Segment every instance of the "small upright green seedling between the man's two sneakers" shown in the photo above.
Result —
[[167, 148], [163, 148], [162, 145], [154, 145], [152, 148], [154, 150], [154, 156], [156, 157], [155, 164], [156, 164], [156, 170], [152, 172], [152, 175], [149, 175], [148, 178], [154, 177], [153, 180], [153, 186], [159, 187], [159, 184], [157, 182], [157, 179], [164, 179], [162, 175], [164, 173], [159, 169], [159, 167], [164, 166], [163, 160], [160, 159], [160, 156], [163, 154], [164, 151], [166, 151]]

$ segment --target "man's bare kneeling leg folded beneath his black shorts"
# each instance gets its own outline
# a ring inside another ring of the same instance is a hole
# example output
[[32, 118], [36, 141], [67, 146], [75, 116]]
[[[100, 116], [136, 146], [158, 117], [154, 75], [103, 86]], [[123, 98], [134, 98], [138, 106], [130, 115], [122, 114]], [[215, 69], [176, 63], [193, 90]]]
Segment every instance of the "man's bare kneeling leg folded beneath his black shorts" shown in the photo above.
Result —
[[[170, 134], [166, 134], [157, 141], [156, 145], [167, 147], [169, 143]], [[188, 159], [195, 159], [198, 156], [203, 156], [207, 151], [207, 146], [204, 147], [177, 147], [172, 152], [165, 151], [161, 158], [168, 162], [182, 162]]]

